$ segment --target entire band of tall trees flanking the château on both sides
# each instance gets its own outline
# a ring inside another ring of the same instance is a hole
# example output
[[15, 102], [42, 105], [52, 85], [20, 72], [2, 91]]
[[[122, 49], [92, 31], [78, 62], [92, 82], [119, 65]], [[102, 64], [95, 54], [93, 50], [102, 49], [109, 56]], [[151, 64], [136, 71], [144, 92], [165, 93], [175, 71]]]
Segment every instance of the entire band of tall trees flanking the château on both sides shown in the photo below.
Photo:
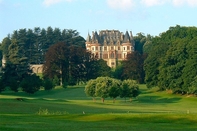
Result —
[[[109, 76], [145, 82], [148, 88], [197, 94], [196, 27], [177, 25], [155, 37], [138, 33], [134, 41], [135, 51], [111, 69], [105, 61], [86, 51], [85, 40], [76, 30], [48, 27], [14, 31], [1, 43], [0, 57], [4, 56], [6, 66], [0, 74], [0, 91], [6, 86], [18, 91], [22, 81], [23, 85], [24, 80], [30, 81], [27, 77], [32, 74], [30, 64], [44, 64], [47, 89], [53, 87], [50, 83], [75, 85]], [[36, 81], [36, 77], [32, 79]]]

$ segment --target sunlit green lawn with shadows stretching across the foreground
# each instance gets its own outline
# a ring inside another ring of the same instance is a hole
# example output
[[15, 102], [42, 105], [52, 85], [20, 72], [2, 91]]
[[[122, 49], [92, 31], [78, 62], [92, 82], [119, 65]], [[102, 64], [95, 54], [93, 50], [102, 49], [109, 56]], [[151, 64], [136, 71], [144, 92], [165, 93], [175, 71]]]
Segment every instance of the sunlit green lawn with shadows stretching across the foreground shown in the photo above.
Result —
[[[132, 102], [100, 98], [84, 87], [0, 94], [0, 131], [194, 131], [197, 98], [147, 90]], [[22, 98], [17, 100], [17, 98]]]

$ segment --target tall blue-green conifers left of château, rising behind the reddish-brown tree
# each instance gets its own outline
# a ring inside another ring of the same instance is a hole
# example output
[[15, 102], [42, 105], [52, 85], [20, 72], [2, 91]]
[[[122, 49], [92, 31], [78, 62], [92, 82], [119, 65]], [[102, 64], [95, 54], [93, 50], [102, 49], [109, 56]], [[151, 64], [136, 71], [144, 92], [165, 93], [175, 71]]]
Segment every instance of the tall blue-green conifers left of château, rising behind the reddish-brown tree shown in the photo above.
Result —
[[48, 48], [57, 42], [85, 48], [85, 39], [79, 36], [76, 30], [36, 27], [33, 30], [26, 28], [15, 30], [3, 39], [1, 49], [5, 59], [9, 59], [11, 47], [17, 46], [18, 50], [22, 51], [20, 54], [22, 56], [19, 57], [27, 57], [30, 64], [43, 64]]

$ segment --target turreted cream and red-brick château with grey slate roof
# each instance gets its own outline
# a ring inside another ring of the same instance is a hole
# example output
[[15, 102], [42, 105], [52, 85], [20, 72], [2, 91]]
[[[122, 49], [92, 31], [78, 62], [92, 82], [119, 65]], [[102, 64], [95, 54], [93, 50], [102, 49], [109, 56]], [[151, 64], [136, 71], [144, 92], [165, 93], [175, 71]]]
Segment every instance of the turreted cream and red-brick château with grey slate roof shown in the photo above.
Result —
[[118, 61], [125, 60], [128, 53], [134, 51], [134, 39], [132, 32], [122, 33], [118, 30], [101, 30], [88, 33], [86, 49], [91, 51], [99, 59], [107, 61], [107, 65], [115, 68]]

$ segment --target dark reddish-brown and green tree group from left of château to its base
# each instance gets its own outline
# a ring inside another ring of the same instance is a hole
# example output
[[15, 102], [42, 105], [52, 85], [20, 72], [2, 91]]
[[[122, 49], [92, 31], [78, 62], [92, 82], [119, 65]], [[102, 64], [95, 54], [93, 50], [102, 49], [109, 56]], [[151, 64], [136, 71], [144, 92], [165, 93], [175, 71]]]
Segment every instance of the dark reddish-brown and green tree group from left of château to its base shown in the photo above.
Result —
[[76, 85], [99, 76], [110, 76], [111, 68], [91, 52], [65, 43], [52, 45], [46, 53], [44, 78], [55, 80], [56, 85]]

